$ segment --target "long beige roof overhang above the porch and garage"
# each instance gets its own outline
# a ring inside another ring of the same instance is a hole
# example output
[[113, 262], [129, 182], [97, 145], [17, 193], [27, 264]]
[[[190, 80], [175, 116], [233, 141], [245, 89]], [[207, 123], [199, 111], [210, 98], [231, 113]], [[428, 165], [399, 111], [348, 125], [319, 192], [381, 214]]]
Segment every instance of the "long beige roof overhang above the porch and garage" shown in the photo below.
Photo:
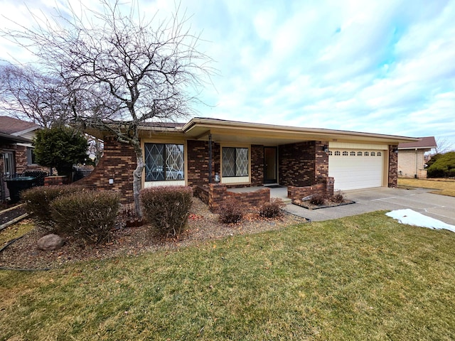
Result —
[[302, 128], [296, 126], [279, 126], [256, 124], [222, 119], [193, 118], [181, 131], [187, 139], [238, 144], [280, 145], [304, 141], [349, 141], [368, 144], [399, 144], [417, 141], [417, 138], [372, 134], [356, 131], [333, 129]]

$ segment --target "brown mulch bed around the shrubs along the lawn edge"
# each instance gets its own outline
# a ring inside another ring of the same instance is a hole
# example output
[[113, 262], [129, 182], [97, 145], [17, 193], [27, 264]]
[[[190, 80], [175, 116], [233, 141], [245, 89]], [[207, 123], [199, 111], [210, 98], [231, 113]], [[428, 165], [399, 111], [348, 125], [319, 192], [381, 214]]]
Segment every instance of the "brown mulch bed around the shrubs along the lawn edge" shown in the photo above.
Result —
[[[30, 222], [31, 220], [24, 220], [20, 224], [30, 224]], [[250, 211], [242, 223], [226, 225], [218, 222], [218, 215], [210, 212], [207, 205], [194, 198], [188, 228], [178, 239], [159, 237], [154, 234], [149, 225], [119, 227], [122, 224], [117, 224], [117, 229], [112, 231], [111, 241], [107, 244], [84, 245], [67, 235], [61, 236], [67, 240], [63, 248], [56, 251], [41, 251], [36, 247], [36, 242], [49, 232], [42, 227], [36, 227], [0, 252], [0, 266], [14, 269], [51, 269], [75, 261], [107, 259], [119, 255], [138, 255], [146, 251], [176, 249], [195, 245], [207, 239], [282, 229], [289, 224], [301, 222], [306, 222], [306, 220], [287, 212], [280, 219], [267, 220], [261, 219], [257, 212]], [[1, 247], [2, 245], [0, 245]]]

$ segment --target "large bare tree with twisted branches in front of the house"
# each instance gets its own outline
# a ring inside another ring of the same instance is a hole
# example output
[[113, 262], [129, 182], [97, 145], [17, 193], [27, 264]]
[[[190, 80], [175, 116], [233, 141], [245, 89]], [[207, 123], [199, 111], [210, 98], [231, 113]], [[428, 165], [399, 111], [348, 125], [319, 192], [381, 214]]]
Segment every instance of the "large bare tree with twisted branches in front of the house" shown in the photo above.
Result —
[[[198, 52], [199, 37], [185, 29], [188, 19], [178, 17], [178, 8], [170, 20], [157, 23], [156, 17], [136, 18], [134, 11], [125, 16], [118, 1], [100, 2], [102, 13], [90, 12], [96, 21], [78, 16], [70, 7], [69, 16], [58, 12], [38, 28], [4, 34], [62, 78], [74, 100], [77, 121], [109, 131], [134, 148], [133, 193], [141, 215], [144, 160], [139, 127], [144, 121], [170, 121], [189, 114], [196, 100], [193, 94], [210, 76], [210, 59]], [[87, 103], [80, 99], [85, 98], [98, 99], [97, 106], [84, 109]]]

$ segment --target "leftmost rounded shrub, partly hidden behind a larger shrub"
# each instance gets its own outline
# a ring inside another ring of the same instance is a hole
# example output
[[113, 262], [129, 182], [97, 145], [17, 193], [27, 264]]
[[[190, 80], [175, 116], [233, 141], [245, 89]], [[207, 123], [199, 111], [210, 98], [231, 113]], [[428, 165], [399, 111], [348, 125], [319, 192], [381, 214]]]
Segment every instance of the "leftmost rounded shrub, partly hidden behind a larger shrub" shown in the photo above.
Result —
[[52, 185], [33, 187], [21, 193], [21, 200], [25, 203], [26, 212], [48, 229], [52, 229], [54, 222], [50, 213], [50, 202], [57, 197], [82, 192], [83, 188], [76, 185]]

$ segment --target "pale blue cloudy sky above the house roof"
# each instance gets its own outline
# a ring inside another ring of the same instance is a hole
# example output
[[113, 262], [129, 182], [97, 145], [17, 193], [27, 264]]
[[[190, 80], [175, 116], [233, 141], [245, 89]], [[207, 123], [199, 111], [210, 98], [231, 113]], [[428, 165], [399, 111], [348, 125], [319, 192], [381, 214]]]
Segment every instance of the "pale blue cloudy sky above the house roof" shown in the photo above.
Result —
[[[145, 18], [176, 6], [132, 1]], [[0, 26], [11, 28], [9, 18], [28, 27], [29, 11], [41, 17], [66, 4], [0, 0]], [[217, 70], [196, 116], [435, 136], [455, 150], [455, 0], [181, 0], [180, 8]], [[31, 58], [0, 37], [0, 59], [12, 56]]]

